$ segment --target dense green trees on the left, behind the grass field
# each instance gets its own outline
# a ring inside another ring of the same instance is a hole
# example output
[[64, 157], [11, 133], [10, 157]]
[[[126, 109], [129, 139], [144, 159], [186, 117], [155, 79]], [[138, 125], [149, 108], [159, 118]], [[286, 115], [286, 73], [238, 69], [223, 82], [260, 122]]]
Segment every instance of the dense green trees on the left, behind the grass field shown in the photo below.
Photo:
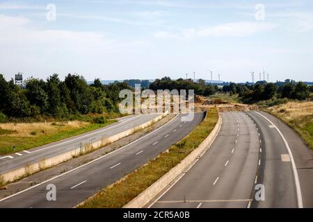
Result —
[[71, 114], [118, 112], [119, 92], [127, 83], [103, 85], [99, 79], [88, 85], [85, 78], [68, 74], [60, 80], [53, 74], [42, 80], [29, 78], [22, 89], [0, 74], [0, 112], [8, 117], [68, 117]]

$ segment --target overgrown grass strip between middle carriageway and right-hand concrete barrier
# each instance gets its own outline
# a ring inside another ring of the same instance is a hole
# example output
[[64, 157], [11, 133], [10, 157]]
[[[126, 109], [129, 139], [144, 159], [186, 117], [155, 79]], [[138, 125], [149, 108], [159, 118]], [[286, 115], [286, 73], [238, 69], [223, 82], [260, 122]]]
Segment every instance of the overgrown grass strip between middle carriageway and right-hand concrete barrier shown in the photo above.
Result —
[[168, 152], [161, 153], [157, 158], [129, 173], [119, 182], [102, 189], [79, 207], [122, 207], [184, 160], [211, 133], [217, 121], [217, 110], [208, 110], [207, 117], [202, 123], [182, 141], [170, 146]]

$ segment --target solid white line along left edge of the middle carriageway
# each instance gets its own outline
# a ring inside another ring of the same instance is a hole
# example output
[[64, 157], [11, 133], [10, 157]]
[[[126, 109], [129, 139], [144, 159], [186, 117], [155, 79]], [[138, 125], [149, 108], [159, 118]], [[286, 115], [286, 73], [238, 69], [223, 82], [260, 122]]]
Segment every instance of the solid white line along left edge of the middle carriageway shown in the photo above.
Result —
[[43, 184], [45, 184], [46, 182], [49, 182], [49, 181], [51, 181], [51, 180], [54, 180], [54, 179], [59, 178], [59, 177], [61, 177], [61, 176], [65, 176], [65, 175], [68, 174], [68, 173], [72, 173], [72, 171], [76, 171], [77, 169], [81, 169], [82, 167], [85, 167], [85, 166], [87, 166], [87, 165], [89, 165], [89, 164], [92, 164], [93, 162], [96, 162], [97, 160], [101, 160], [102, 158], [104, 158], [104, 157], [106, 157], [106, 156], [108, 156], [108, 155], [112, 155], [113, 153], [116, 153], [116, 152], [118, 152], [118, 151], [121, 151], [123, 148], [126, 148], [127, 146], [129, 146], [129, 145], [131, 145], [131, 144], [134, 144], [135, 142], [138, 142], [139, 140], [141, 140], [141, 139], [147, 137], [148, 135], [157, 132], [157, 130], [160, 130], [160, 129], [163, 128], [164, 126], [168, 125], [168, 123], [170, 123], [171, 121], [173, 121], [174, 119], [176, 119], [176, 118], [178, 117], [178, 115], [179, 115], [179, 114], [176, 114], [176, 116], [175, 116], [174, 118], [172, 118], [170, 121], [168, 121], [167, 123], [165, 123], [165, 124], [164, 124], [163, 126], [161, 126], [160, 128], [157, 128], [156, 130], [153, 130], [151, 133], [148, 133], [147, 135], [144, 135], [143, 137], [141, 137], [141, 138], [139, 138], [139, 139], [136, 139], [134, 142], [131, 142], [130, 144], [127, 144], [127, 145], [125, 145], [125, 146], [122, 146], [121, 148], [118, 148], [117, 150], [112, 151], [111, 153], [108, 153], [108, 154], [106, 154], [106, 155], [103, 155], [103, 156], [101, 156], [101, 157], [95, 159], [95, 160], [92, 160], [92, 161], [90, 161], [90, 162], [87, 162], [86, 164], [83, 164], [83, 165], [81, 165], [81, 166], [79, 166], [79, 167], [77, 167], [77, 168], [71, 169], [70, 171], [67, 171], [67, 172], [65, 172], [65, 173], [61, 173], [61, 174], [59, 174], [58, 176], [55, 176], [55, 177], [50, 178], [50, 179], [48, 179], [48, 180], [42, 181], [42, 182], [38, 183], [37, 185], [33, 185], [33, 187], [29, 187], [29, 188], [27, 188], [27, 189], [23, 189], [22, 191], [19, 191], [19, 192], [15, 193], [15, 194], [12, 194], [12, 195], [7, 196], [7, 197], [5, 197], [5, 198], [2, 198], [2, 199], [0, 199], [0, 202], [2, 202], [3, 200], [7, 200], [7, 199], [9, 199], [9, 198], [11, 198], [11, 197], [13, 197], [13, 196], [17, 196], [17, 195], [19, 195], [19, 194], [22, 194], [22, 193], [24, 193], [25, 191], [28, 191], [28, 190], [33, 189], [33, 188], [35, 188], [35, 187], [38, 187], [38, 186], [40, 186], [40, 185], [43, 185]]

